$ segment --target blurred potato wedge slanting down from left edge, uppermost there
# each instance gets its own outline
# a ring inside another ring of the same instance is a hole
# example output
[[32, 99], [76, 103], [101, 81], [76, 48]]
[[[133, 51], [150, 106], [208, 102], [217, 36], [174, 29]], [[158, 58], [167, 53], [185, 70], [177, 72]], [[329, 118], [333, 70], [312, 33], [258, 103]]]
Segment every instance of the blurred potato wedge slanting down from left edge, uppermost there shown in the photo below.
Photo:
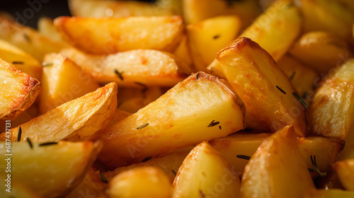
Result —
[[0, 16], [0, 39], [21, 48], [40, 62], [45, 54], [59, 52], [66, 46], [4, 16]]

